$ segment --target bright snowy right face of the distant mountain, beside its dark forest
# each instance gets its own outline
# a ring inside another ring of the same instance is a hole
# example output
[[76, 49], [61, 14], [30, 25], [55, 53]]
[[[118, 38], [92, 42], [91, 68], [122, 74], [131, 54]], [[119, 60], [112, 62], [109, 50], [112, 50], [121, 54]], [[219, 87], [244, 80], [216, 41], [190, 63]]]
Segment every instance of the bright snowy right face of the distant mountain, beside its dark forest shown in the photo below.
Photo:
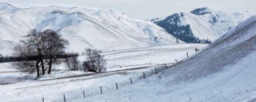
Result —
[[218, 39], [251, 16], [248, 12], [217, 11], [211, 8], [206, 8], [204, 12], [211, 13], [204, 15], [185, 13], [184, 19], [191, 26], [196, 37], [208, 38], [210, 41]]

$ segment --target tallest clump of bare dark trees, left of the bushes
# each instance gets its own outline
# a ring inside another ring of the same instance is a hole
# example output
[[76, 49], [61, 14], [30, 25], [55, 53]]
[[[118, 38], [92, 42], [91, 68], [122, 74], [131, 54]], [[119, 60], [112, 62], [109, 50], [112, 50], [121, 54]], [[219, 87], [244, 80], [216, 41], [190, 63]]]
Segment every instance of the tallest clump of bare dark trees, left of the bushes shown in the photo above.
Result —
[[52, 65], [60, 63], [56, 55], [64, 54], [68, 41], [61, 38], [56, 31], [46, 29], [42, 32], [32, 29], [24, 36], [22, 44], [14, 47], [14, 55], [23, 57], [22, 61], [12, 63], [14, 67], [23, 73], [40, 75], [51, 73]]

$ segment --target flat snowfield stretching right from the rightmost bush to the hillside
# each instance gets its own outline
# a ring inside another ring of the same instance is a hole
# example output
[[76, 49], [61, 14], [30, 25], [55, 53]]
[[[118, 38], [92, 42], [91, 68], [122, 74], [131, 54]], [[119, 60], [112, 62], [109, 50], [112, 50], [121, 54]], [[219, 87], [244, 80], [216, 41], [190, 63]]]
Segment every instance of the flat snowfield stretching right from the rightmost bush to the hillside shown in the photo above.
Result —
[[[208, 44], [183, 43], [173, 45], [162, 45], [156, 47], [146, 47], [138, 49], [126, 49], [102, 53], [107, 61], [107, 71], [130, 69], [136, 67], [163, 65], [164, 63], [177, 63], [194, 54], [195, 49], [202, 49]], [[80, 59], [84, 61], [85, 59]]]

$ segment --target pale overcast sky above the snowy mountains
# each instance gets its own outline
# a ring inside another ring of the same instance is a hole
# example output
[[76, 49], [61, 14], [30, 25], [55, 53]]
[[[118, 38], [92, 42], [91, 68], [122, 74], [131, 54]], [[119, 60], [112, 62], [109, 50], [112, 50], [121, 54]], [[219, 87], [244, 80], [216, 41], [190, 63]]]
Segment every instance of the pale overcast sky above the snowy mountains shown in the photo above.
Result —
[[195, 8], [249, 11], [256, 14], [256, 0], [0, 0], [12, 4], [68, 4], [90, 6], [124, 12], [131, 18], [151, 19], [173, 13], [189, 12]]

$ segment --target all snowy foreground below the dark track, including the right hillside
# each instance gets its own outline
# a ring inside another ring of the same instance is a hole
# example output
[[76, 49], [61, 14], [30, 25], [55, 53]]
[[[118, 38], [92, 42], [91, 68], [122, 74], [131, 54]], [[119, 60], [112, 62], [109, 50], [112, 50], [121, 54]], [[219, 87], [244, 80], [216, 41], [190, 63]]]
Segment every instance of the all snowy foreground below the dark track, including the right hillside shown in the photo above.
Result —
[[[65, 94], [67, 102], [254, 102], [255, 32], [256, 16], [197, 54], [158, 74], [154, 73], [154, 67], [149, 67], [59, 80], [18, 82], [2, 85], [0, 100], [40, 102], [44, 98], [45, 102], [63, 102]], [[146, 72], [146, 79], [142, 72]], [[86, 98], [83, 98], [83, 90]]]

